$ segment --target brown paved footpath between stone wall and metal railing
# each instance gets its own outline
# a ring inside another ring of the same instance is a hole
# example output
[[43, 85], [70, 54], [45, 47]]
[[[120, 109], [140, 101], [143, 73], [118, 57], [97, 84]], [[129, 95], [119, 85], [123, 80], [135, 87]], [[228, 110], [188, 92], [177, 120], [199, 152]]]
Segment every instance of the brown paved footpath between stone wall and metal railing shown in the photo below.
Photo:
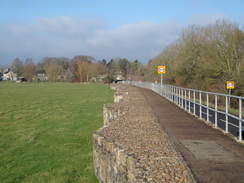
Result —
[[244, 145], [148, 89], [160, 125], [201, 183], [244, 183]]

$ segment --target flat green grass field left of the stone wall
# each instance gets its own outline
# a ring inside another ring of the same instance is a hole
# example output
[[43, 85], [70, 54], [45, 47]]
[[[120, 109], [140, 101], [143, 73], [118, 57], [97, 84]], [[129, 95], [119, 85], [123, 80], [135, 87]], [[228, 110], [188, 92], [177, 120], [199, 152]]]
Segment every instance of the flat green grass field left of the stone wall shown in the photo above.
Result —
[[109, 85], [0, 83], [0, 182], [98, 182], [92, 133]]

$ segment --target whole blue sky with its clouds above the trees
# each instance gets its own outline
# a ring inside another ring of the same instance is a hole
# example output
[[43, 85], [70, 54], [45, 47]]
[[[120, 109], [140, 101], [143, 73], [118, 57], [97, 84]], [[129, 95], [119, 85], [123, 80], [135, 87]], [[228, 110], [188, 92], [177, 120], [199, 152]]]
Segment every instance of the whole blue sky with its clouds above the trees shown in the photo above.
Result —
[[147, 63], [189, 25], [244, 26], [244, 0], [0, 0], [0, 66], [90, 55]]

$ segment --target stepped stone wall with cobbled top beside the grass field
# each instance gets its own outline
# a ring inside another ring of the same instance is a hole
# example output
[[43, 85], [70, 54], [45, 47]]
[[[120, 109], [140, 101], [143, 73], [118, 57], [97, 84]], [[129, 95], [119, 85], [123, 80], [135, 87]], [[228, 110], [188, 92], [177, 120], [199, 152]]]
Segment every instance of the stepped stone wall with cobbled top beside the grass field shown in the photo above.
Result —
[[111, 88], [116, 103], [104, 106], [104, 127], [93, 135], [99, 182], [195, 182], [140, 90]]

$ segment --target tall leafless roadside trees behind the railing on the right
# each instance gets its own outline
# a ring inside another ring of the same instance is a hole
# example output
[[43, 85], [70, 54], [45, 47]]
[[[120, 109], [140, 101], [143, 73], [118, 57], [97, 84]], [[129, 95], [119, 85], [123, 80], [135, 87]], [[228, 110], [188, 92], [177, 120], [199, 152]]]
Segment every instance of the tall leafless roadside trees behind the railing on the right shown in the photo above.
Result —
[[148, 63], [149, 80], [158, 65], [167, 68], [166, 83], [226, 93], [226, 81], [235, 81], [233, 93], [244, 96], [244, 31], [226, 20], [190, 26]]

